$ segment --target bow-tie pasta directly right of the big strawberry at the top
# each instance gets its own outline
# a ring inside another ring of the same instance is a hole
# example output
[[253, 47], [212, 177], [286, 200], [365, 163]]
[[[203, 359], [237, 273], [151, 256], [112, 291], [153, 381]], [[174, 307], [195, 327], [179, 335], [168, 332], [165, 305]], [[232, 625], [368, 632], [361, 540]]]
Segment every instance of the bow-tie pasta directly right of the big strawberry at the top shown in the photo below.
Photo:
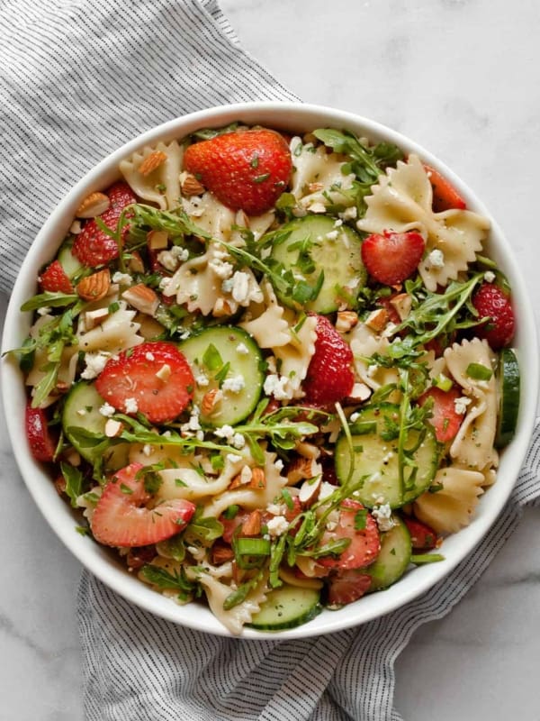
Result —
[[315, 148], [311, 142], [302, 145], [298, 137], [291, 141], [293, 158], [293, 187], [291, 192], [299, 205], [316, 212], [317, 206], [342, 203], [340, 190], [353, 185], [355, 176], [345, 175], [345, 160], [337, 153], [328, 153], [323, 145]]

